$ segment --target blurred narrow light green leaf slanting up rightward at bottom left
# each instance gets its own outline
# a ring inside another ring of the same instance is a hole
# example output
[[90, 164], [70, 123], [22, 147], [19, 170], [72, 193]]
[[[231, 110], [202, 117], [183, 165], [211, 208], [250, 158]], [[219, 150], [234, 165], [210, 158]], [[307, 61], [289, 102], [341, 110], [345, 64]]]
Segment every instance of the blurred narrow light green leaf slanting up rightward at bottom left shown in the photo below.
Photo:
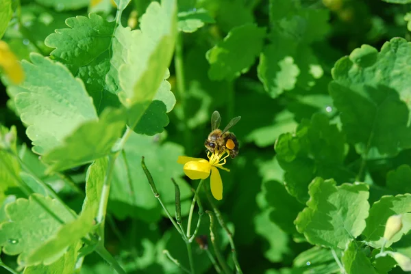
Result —
[[52, 264], [66, 253], [70, 246], [75, 246], [93, 227], [92, 210], [83, 211], [74, 221], [60, 226], [58, 232], [42, 241], [40, 247], [19, 257], [20, 264], [34, 265], [38, 263]]

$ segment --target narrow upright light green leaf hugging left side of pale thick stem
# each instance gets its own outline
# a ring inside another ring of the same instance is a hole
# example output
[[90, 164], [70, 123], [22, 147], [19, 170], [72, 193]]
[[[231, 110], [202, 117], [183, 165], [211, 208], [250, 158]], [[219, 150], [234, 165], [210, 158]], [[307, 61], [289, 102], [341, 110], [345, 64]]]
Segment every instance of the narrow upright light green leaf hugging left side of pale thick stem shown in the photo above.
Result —
[[105, 172], [107, 171], [108, 159], [103, 157], [94, 161], [87, 169], [86, 174], [86, 199], [84, 199], [82, 211], [90, 211], [96, 217], [99, 209], [101, 190]]

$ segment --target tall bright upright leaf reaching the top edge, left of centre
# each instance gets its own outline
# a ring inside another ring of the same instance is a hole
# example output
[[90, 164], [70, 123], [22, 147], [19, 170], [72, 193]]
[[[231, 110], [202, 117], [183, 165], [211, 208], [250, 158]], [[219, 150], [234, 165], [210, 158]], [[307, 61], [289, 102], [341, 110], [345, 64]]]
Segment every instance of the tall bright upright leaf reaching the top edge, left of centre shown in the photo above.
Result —
[[[151, 2], [140, 20], [140, 31], [129, 46], [126, 64], [119, 68], [123, 103], [153, 100], [173, 55], [177, 31], [175, 0]], [[127, 100], [126, 100], [127, 99]], [[138, 115], [137, 115], [138, 116]]]

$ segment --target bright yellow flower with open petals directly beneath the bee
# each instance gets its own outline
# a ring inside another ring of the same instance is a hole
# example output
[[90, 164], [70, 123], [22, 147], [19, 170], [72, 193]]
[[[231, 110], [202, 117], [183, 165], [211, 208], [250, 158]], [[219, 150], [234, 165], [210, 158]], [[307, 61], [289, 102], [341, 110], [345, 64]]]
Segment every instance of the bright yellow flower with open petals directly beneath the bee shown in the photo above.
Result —
[[[224, 156], [224, 154], [227, 154]], [[227, 151], [221, 154], [211, 154], [208, 152], [206, 159], [201, 158], [192, 158], [188, 156], [179, 156], [177, 163], [181, 163], [184, 165], [184, 173], [190, 178], [191, 180], [197, 179], [206, 179], [210, 176], [210, 188], [211, 193], [216, 198], [216, 200], [223, 199], [223, 181], [221, 180], [219, 169], [224, 169], [229, 172], [229, 169], [223, 167], [226, 161], [225, 159], [229, 156]]]

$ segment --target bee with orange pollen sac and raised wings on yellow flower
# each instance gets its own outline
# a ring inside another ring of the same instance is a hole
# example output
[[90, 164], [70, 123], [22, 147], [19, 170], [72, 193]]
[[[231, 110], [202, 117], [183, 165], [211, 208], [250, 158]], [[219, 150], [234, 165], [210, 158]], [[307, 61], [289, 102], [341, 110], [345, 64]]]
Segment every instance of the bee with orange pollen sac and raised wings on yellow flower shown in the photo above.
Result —
[[228, 130], [232, 128], [241, 119], [240, 116], [233, 118], [223, 131], [219, 129], [221, 123], [221, 116], [219, 111], [214, 111], [211, 115], [211, 133], [208, 135], [204, 146], [211, 153], [219, 152], [223, 153], [226, 149], [229, 151], [229, 156], [234, 159], [238, 155], [238, 140], [234, 133], [230, 133]]

